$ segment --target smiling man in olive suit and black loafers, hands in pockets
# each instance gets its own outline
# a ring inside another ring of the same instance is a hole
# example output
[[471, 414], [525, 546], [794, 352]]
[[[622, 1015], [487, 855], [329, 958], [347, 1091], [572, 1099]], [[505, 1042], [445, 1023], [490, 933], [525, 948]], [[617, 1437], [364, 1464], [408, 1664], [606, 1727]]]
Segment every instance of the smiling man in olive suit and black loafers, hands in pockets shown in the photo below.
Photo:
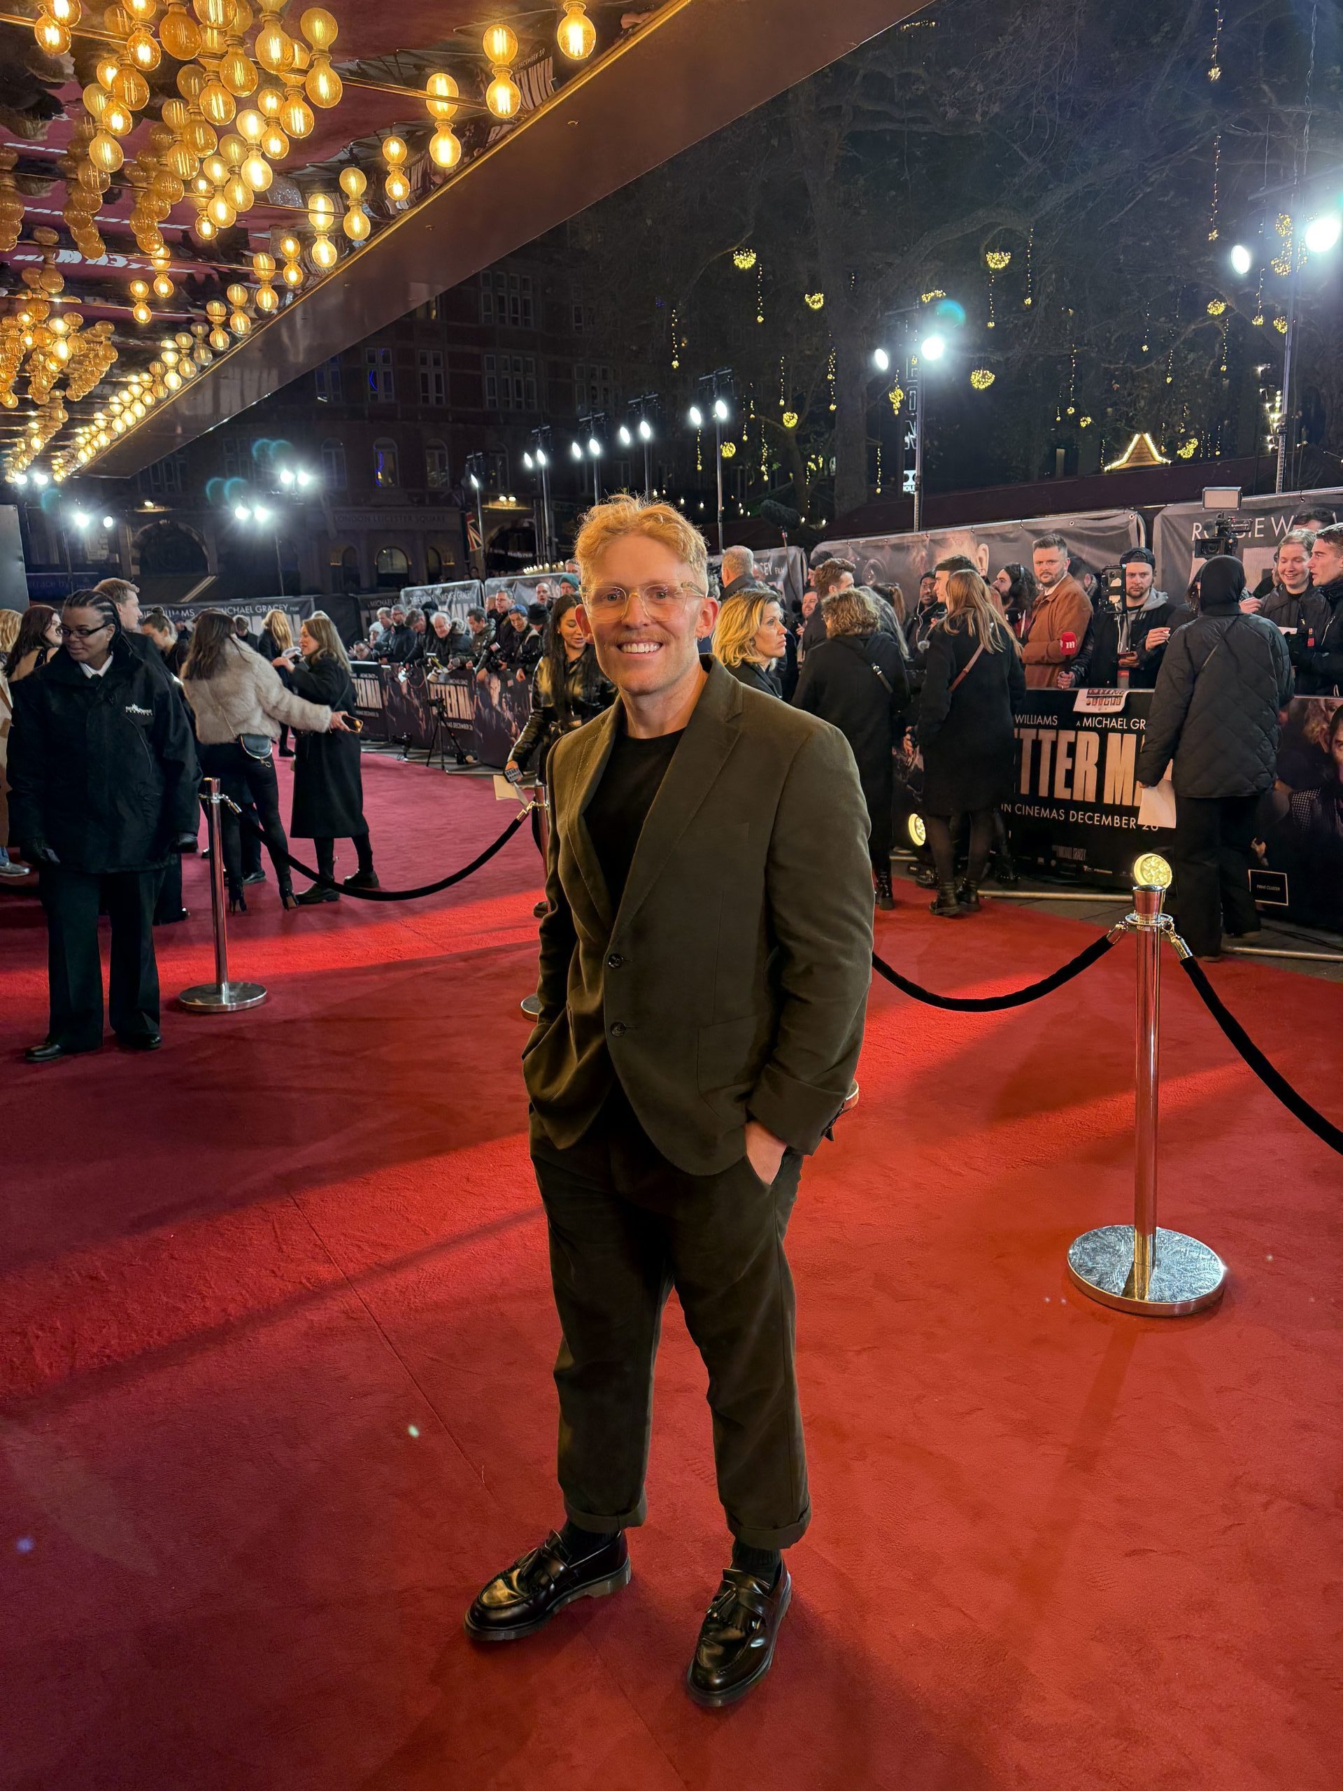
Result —
[[616, 686], [550, 759], [541, 1017], [523, 1051], [562, 1341], [566, 1524], [471, 1605], [532, 1635], [629, 1583], [672, 1288], [709, 1370], [732, 1565], [689, 1664], [698, 1703], [770, 1669], [811, 1517], [784, 1232], [843, 1107], [872, 965], [867, 810], [843, 736], [741, 686], [704, 539], [616, 498], [577, 543], [584, 634]]

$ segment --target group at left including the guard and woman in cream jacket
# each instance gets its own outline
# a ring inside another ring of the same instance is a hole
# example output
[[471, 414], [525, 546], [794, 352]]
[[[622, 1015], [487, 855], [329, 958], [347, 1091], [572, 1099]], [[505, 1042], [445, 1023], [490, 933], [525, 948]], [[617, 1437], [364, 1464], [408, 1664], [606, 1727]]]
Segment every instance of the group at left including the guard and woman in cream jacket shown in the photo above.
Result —
[[[29, 1062], [104, 1042], [98, 915], [111, 922], [107, 1017], [127, 1050], [161, 1044], [154, 926], [186, 919], [181, 858], [197, 851], [202, 779], [218, 779], [229, 910], [263, 883], [265, 840], [285, 908], [340, 899], [335, 842], [355, 845], [344, 881], [376, 888], [364, 818], [349, 659], [335, 623], [308, 616], [299, 641], [272, 611], [208, 609], [190, 630], [141, 614], [125, 578], [75, 591], [59, 611], [0, 611], [0, 872], [38, 879], [47, 915], [50, 1017]], [[294, 729], [290, 835], [313, 842], [321, 881], [295, 896], [279, 817], [276, 747]]]

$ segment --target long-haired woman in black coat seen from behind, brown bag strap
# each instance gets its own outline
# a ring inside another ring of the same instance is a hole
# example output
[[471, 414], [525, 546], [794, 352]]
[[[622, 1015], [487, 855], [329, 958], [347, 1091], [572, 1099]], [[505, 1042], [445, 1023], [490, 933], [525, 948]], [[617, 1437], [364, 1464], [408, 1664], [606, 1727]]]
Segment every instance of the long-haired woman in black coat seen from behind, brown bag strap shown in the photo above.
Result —
[[[928, 636], [919, 706], [924, 754], [924, 822], [937, 869], [931, 912], [958, 921], [979, 908], [979, 883], [994, 842], [999, 802], [1012, 795], [1015, 724], [1012, 704], [1026, 695], [1021, 647], [978, 571], [947, 578], [947, 614]], [[953, 822], [971, 817], [965, 881], [956, 890]]]

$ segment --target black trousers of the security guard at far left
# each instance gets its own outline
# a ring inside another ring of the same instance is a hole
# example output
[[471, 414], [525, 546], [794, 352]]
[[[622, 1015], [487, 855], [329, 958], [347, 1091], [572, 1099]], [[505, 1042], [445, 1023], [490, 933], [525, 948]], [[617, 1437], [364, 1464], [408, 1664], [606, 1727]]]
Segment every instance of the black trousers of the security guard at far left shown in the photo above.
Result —
[[98, 906], [111, 921], [107, 1010], [118, 1039], [159, 1030], [159, 971], [154, 962], [154, 903], [161, 870], [95, 876], [43, 865], [47, 910], [48, 1037], [73, 1050], [102, 1044]]

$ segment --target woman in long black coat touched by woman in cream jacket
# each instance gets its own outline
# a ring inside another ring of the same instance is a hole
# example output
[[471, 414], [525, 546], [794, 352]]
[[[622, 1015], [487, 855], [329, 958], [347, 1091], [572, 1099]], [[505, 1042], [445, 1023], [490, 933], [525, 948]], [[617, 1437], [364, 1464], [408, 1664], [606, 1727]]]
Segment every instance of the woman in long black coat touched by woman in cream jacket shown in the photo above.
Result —
[[[288, 688], [306, 702], [324, 702], [329, 709], [355, 707], [349, 659], [337, 625], [319, 609], [299, 629], [297, 664], [276, 659], [276, 670]], [[364, 774], [358, 734], [299, 734], [294, 754], [294, 811], [288, 831], [295, 840], [312, 840], [317, 869], [335, 878], [335, 842], [353, 840], [358, 870], [346, 878], [349, 888], [376, 890], [369, 824], [364, 818]], [[313, 883], [297, 897], [301, 908], [340, 901], [340, 890]]]

